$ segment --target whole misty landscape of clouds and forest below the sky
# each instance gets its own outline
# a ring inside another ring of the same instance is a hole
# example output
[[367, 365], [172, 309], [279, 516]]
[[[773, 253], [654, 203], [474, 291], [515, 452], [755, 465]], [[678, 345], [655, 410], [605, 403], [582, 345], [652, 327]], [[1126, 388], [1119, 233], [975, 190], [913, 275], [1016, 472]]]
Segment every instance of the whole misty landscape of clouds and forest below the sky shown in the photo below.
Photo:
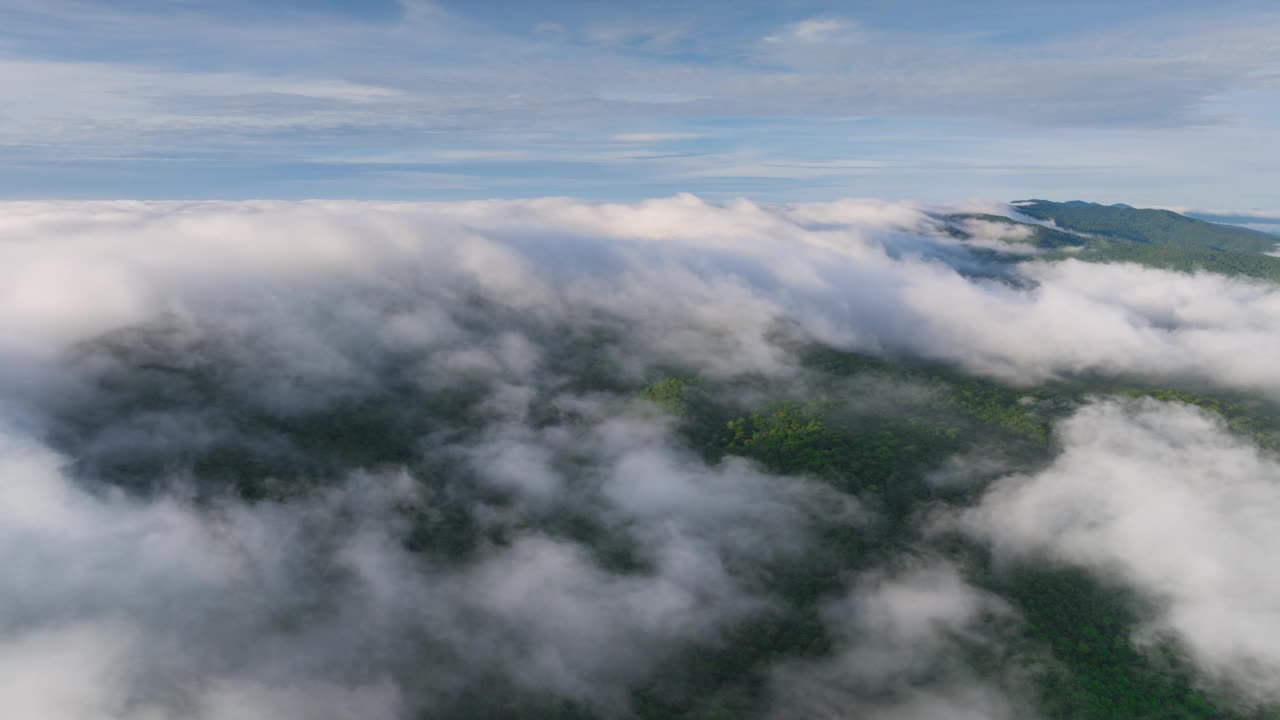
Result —
[[24, 717], [1280, 717], [1276, 236], [8, 202]]

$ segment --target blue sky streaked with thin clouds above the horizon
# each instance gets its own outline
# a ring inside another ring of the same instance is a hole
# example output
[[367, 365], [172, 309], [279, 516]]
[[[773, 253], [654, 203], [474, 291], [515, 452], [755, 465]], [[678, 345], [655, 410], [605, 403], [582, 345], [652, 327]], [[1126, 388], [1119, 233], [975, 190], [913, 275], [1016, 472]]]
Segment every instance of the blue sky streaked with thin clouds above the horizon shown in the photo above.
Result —
[[1275, 209], [1274, 1], [0, 0], [0, 197]]

